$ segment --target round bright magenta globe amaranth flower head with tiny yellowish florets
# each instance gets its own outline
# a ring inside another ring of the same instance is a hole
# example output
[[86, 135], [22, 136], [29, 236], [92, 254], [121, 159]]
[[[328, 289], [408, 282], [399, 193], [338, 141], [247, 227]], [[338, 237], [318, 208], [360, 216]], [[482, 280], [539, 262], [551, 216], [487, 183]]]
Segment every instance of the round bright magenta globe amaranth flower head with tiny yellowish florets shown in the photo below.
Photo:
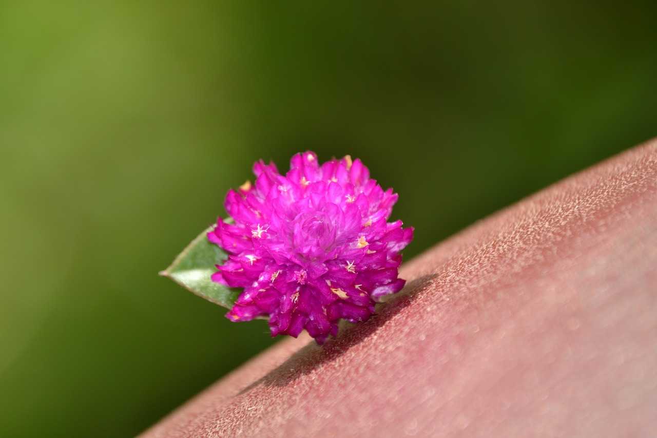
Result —
[[290, 171], [254, 164], [256, 182], [226, 195], [233, 222], [219, 218], [208, 238], [229, 256], [212, 280], [243, 287], [227, 318], [269, 316], [271, 335], [318, 343], [338, 321], [363, 322], [383, 295], [401, 290], [399, 251], [413, 228], [387, 222], [397, 201], [349, 156], [321, 166], [312, 152], [292, 157]]

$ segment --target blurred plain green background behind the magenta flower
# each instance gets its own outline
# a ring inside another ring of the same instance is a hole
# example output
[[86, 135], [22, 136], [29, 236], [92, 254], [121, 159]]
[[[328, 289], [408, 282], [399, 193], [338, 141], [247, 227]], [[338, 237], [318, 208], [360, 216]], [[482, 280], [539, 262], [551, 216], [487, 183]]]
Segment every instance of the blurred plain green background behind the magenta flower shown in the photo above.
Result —
[[408, 259], [657, 135], [655, 5], [0, 1], [0, 436], [136, 435], [273, 343], [157, 276], [258, 158], [363, 159]]

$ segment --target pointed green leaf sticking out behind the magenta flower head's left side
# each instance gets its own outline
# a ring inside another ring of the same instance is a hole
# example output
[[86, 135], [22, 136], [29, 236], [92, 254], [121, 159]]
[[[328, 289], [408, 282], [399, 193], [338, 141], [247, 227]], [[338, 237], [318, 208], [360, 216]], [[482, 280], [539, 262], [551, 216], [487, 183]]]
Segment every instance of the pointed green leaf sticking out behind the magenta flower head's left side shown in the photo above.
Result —
[[217, 245], [208, 241], [208, 232], [212, 230], [214, 226], [200, 233], [160, 275], [171, 278], [185, 289], [212, 303], [232, 308], [242, 289], [212, 281], [212, 274], [217, 272], [215, 265], [223, 264], [228, 258]]

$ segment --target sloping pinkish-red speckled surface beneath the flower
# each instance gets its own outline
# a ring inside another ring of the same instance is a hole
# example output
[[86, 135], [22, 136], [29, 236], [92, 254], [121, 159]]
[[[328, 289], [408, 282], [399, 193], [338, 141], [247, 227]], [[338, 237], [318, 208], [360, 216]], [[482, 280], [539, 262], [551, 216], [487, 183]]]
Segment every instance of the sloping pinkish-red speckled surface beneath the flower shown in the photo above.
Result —
[[368, 322], [286, 339], [141, 436], [657, 436], [657, 140], [400, 276]]

